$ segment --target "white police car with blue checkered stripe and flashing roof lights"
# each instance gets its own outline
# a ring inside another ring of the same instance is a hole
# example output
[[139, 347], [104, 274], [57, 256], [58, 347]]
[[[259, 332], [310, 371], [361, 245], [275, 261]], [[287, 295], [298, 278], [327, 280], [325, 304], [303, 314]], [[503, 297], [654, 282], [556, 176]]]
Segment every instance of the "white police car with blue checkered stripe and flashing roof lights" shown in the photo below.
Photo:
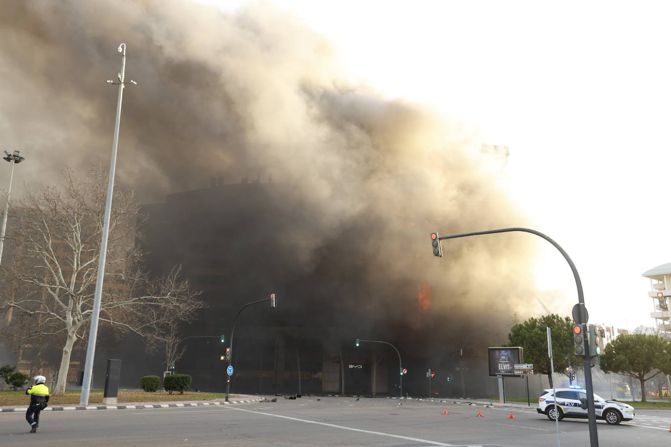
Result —
[[[556, 395], [554, 394], [556, 392]], [[564, 418], [584, 418], [587, 416], [587, 392], [580, 388], [556, 388], [544, 390], [538, 398], [536, 411], [548, 416], [554, 421]], [[556, 396], [556, 397], [555, 397]], [[603, 419], [608, 424], [619, 424], [622, 421], [631, 421], [634, 411], [631, 405], [617, 401], [607, 401], [594, 395], [594, 407], [597, 419]]]

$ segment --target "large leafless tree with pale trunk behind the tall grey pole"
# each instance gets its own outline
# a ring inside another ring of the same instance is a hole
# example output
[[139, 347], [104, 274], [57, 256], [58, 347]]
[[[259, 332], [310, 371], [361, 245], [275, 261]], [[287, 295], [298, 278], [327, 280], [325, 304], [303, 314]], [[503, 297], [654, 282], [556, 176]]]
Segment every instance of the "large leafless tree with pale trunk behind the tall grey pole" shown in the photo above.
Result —
[[[85, 178], [64, 172], [64, 182], [30, 188], [15, 202], [16, 222], [6, 239], [11, 262], [3, 275], [11, 293], [3, 293], [0, 310], [13, 310], [12, 324], [21, 326], [23, 342], [64, 338], [55, 393], [64, 393], [72, 349], [87, 336], [97, 277], [107, 184], [99, 168]], [[179, 269], [153, 279], [143, 271], [136, 246], [141, 220], [132, 191], [115, 188], [109, 220], [107, 262], [100, 306], [101, 325], [136, 332], [156, 342], [166, 320], [193, 318], [203, 304]], [[11, 280], [10, 280], [11, 279]], [[154, 335], [154, 336], [152, 336]]]

